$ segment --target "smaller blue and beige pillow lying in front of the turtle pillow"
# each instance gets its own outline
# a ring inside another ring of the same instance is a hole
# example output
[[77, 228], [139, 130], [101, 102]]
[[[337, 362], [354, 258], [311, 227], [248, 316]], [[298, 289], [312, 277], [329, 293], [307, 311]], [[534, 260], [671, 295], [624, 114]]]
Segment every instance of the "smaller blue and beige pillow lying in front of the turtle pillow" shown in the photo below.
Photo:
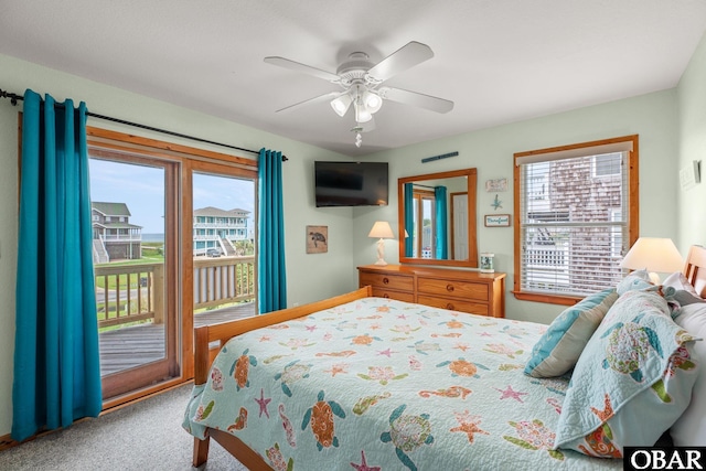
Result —
[[532, 349], [525, 374], [552, 377], [571, 370], [617, 299], [614, 289], [606, 289], [564, 310]]

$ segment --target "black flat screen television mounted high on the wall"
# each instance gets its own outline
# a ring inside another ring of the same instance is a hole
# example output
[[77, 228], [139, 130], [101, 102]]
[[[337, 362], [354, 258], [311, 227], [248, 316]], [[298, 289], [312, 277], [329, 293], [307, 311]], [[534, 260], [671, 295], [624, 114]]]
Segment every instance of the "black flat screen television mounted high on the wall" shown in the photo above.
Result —
[[387, 162], [314, 162], [317, 207], [387, 204]]

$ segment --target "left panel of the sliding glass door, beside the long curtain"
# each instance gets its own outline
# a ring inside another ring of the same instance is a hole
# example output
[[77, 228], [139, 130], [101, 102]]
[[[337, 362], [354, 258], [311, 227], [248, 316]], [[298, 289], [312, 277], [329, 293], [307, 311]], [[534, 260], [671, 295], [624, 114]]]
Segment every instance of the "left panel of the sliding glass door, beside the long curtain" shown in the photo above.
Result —
[[174, 162], [92, 148], [104, 398], [180, 374]]

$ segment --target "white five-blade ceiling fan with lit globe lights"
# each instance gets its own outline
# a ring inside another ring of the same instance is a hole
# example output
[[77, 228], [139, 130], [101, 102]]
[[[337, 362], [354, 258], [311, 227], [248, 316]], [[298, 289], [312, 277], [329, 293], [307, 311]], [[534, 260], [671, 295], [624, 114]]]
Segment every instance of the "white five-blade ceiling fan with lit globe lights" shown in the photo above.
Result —
[[340, 85], [343, 88], [342, 92], [331, 92], [309, 98], [278, 109], [277, 113], [327, 100], [330, 100], [331, 107], [341, 117], [353, 108], [355, 127], [351, 130], [356, 133], [355, 146], [361, 147], [363, 142], [361, 132], [375, 128], [373, 115], [381, 109], [386, 99], [437, 113], [448, 113], [453, 109], [453, 101], [448, 99], [383, 86], [385, 81], [431, 57], [434, 52], [428, 45], [411, 41], [377, 64], [373, 64], [366, 53], [353, 52], [339, 65], [335, 74], [279, 56], [265, 57], [265, 62]]

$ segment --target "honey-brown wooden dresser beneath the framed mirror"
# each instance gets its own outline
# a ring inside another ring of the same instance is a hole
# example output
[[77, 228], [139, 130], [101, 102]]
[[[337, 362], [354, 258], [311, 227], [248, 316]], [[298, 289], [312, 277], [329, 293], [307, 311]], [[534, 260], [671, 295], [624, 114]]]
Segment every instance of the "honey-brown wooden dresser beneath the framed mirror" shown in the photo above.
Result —
[[472, 314], [505, 317], [505, 274], [400, 265], [357, 267], [373, 295]]

